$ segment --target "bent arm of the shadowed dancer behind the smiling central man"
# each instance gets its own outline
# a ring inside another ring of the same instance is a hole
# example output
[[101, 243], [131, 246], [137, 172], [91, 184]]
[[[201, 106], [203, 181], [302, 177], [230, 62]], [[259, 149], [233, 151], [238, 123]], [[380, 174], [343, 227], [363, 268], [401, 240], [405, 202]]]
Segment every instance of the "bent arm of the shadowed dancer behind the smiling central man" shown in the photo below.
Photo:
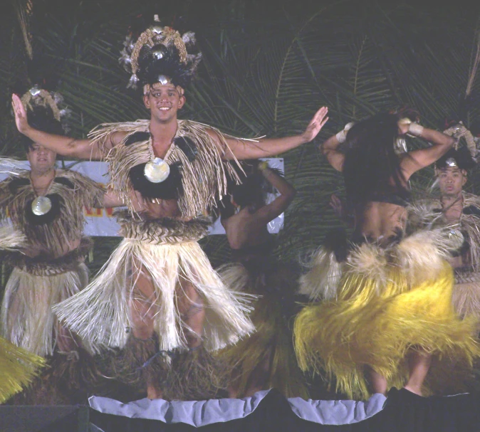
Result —
[[274, 218], [281, 215], [283, 211], [295, 198], [296, 190], [295, 188], [286, 181], [283, 177], [279, 176], [272, 169], [268, 168], [266, 162], [262, 162], [259, 166], [261, 173], [264, 175], [266, 181], [270, 183], [278, 192], [280, 196], [277, 196], [270, 204], [261, 207], [254, 214], [254, 217], [261, 221], [261, 223], [268, 223], [273, 221]]

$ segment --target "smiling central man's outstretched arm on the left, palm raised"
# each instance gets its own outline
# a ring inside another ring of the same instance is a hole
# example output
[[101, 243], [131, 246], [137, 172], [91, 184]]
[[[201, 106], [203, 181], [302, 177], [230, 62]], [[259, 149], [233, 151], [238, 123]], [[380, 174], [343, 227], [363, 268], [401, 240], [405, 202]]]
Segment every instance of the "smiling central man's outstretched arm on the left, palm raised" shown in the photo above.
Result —
[[[98, 143], [92, 144], [90, 139], [75, 139], [36, 130], [28, 125], [26, 110], [19, 96], [12, 95], [11, 101], [14, 107], [17, 129], [33, 142], [41, 144], [43, 147], [63, 156], [76, 157], [78, 159], [101, 159], [102, 153]], [[121, 137], [112, 137], [112, 142], [107, 142], [105, 145], [107, 148], [111, 147], [117, 144], [116, 141], [120, 142], [120, 139]]]

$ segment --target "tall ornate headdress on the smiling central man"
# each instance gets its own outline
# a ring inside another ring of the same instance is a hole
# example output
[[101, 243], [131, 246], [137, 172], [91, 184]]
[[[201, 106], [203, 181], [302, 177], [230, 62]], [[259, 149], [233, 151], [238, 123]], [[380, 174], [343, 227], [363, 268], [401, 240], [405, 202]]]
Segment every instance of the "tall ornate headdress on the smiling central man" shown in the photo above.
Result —
[[202, 53], [197, 50], [192, 32], [180, 33], [171, 27], [160, 26], [155, 15], [154, 23], [135, 41], [130, 33], [121, 52], [120, 63], [131, 73], [128, 88], [143, 87], [144, 94], [156, 83], [172, 83], [183, 89], [192, 80]]

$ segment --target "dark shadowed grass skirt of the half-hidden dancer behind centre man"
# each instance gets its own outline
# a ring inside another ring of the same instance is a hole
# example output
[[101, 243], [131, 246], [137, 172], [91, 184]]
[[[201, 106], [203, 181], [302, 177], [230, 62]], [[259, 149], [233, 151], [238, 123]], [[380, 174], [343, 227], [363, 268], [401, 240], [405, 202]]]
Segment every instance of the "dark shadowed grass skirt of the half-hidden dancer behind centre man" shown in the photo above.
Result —
[[291, 329], [282, 302], [293, 302], [296, 274], [280, 265], [249, 271], [241, 263], [226, 264], [219, 274], [226, 285], [244, 293], [261, 295], [254, 303], [251, 320], [256, 332], [236, 345], [224, 349], [220, 358], [233, 371], [231, 385], [244, 397], [251, 376], [261, 364], [268, 362], [265, 389], [275, 388], [286, 397], [308, 398], [301, 370], [293, 351]]

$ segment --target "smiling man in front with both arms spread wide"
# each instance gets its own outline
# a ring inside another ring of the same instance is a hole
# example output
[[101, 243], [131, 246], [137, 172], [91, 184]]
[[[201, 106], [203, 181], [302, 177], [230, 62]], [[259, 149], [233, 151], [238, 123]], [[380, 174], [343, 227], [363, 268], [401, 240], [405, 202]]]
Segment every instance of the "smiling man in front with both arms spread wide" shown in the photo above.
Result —
[[[199, 365], [202, 348], [214, 351], [254, 330], [246, 317], [248, 307], [221, 283], [197, 243], [210, 223], [205, 212], [225, 193], [226, 175], [234, 176], [230, 161], [298, 147], [311, 141], [327, 120], [323, 107], [303, 134], [259, 141], [177, 120], [184, 88], [200, 60], [194, 50], [193, 33], [182, 37], [158, 22], [135, 43], [127, 39], [123, 58], [132, 70], [130, 82], [142, 85], [150, 120], [101, 125], [90, 139], [36, 130], [13, 97], [20, 132], [60, 154], [109, 162], [109, 187], [129, 208], [120, 219], [125, 239], [103, 273], [56, 310], [95, 349], [125, 348], [128, 367], [142, 372], [150, 398], [169, 397], [162, 394], [167, 386], [155, 372], [160, 357], [175, 361], [173, 350], [187, 349], [187, 362]], [[135, 204], [135, 193], [141, 195], [141, 205]], [[210, 371], [207, 380], [214, 369], [202, 367], [207, 375]], [[201, 389], [201, 380], [195, 381], [192, 376], [183, 388]]]

